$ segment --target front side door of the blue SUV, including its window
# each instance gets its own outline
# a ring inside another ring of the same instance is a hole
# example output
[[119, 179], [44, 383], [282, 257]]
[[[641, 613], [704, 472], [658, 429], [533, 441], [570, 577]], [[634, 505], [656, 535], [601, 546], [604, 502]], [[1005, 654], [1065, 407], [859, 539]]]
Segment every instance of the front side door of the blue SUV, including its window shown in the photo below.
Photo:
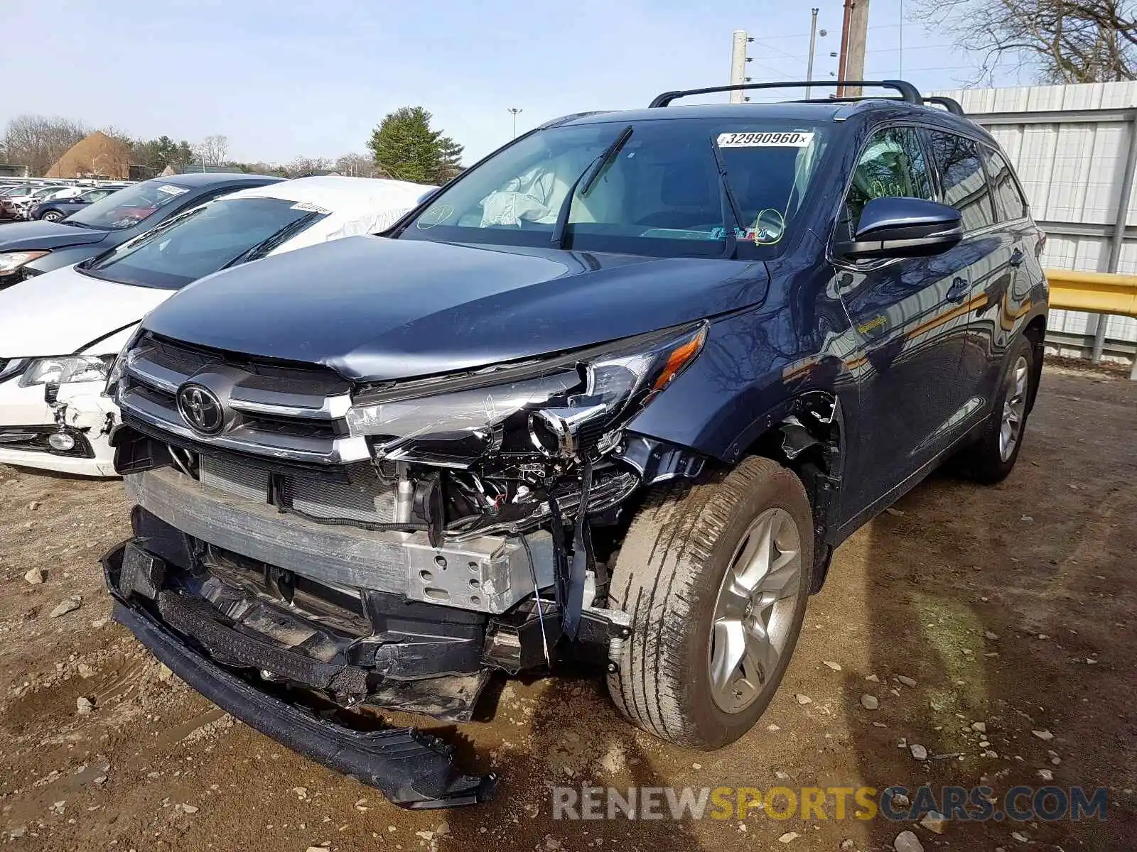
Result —
[[[981, 174], [981, 173], [980, 173]], [[932, 199], [931, 169], [914, 126], [875, 131], [858, 158], [838, 239], [883, 195]], [[846, 518], [857, 518], [919, 471], [954, 436], [964, 406], [960, 378], [970, 290], [966, 252], [931, 258], [841, 261], [836, 284], [857, 349], [847, 366], [858, 387], [857, 441], [843, 486]], [[878, 507], [879, 508], [879, 507]]]

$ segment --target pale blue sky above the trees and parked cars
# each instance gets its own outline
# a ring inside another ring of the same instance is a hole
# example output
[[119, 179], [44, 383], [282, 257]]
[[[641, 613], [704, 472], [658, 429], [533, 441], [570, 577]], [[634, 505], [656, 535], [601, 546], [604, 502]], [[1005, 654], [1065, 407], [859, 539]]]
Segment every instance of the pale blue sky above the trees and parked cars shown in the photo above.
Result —
[[[872, 0], [866, 75], [923, 90], [972, 69]], [[832, 78], [840, 0], [821, 9], [815, 78]], [[421, 105], [470, 165], [518, 130], [567, 112], [646, 106], [667, 89], [729, 82], [733, 30], [755, 36], [750, 76], [803, 78], [810, 3], [679, 0], [6, 0], [0, 126], [20, 112], [133, 136], [225, 134], [230, 157], [287, 161], [364, 151], [397, 107]], [[7, 37], [19, 33], [19, 37]], [[1006, 81], [1014, 83], [1014, 80]]]

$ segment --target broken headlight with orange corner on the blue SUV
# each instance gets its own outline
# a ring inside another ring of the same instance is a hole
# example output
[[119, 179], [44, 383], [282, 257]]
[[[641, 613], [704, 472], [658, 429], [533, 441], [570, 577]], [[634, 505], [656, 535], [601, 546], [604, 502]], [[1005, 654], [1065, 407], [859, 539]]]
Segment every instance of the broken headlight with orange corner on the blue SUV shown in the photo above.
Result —
[[488, 453], [573, 458], [613, 435], [689, 365], [706, 325], [666, 329], [545, 361], [360, 394], [351, 435], [376, 458], [468, 467]]

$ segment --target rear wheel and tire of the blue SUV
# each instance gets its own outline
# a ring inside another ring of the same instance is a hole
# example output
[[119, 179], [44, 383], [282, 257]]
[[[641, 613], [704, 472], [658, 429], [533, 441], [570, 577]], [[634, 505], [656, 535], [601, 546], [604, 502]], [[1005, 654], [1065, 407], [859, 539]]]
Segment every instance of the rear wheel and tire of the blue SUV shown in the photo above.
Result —
[[[995, 404], [987, 418], [982, 436], [960, 456], [960, 469], [971, 479], [984, 485], [1003, 482], [1014, 469], [1014, 462], [1022, 450], [1027, 434], [1027, 418], [1034, 398], [1038, 371], [1035, 369], [1037, 354], [1027, 337], [1020, 337], [1003, 365]], [[1016, 417], [1016, 425], [1007, 421], [1007, 416]], [[1013, 435], [1013, 445], [1007, 451], [1007, 428]]]

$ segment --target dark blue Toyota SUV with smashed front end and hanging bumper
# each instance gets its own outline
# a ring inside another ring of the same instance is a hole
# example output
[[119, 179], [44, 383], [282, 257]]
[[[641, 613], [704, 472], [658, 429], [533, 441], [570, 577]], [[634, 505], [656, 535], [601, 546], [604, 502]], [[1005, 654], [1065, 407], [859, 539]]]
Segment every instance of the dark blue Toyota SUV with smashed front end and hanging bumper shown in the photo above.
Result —
[[110, 377], [115, 618], [407, 807], [495, 779], [374, 712], [470, 719], [495, 671], [745, 734], [833, 549], [948, 457], [1005, 477], [1041, 368], [1005, 156], [861, 85], [901, 97], [566, 117], [382, 236], [179, 292]]

